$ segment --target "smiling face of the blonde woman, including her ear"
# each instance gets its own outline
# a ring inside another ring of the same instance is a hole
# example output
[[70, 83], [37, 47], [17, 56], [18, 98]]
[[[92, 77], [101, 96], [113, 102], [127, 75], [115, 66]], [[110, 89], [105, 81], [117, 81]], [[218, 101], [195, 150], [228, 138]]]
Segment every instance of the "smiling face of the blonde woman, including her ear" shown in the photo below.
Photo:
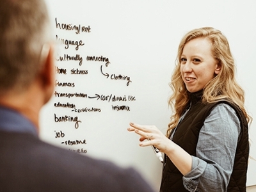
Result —
[[195, 38], [183, 48], [180, 63], [182, 80], [189, 92], [202, 90], [220, 72], [218, 60], [212, 56], [212, 45], [207, 38]]

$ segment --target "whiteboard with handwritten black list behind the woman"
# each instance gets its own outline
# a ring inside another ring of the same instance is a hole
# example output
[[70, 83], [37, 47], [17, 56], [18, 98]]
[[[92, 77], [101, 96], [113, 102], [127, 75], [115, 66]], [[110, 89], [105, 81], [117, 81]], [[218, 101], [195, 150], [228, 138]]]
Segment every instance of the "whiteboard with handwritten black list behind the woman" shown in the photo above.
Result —
[[[166, 132], [172, 114], [168, 83], [177, 47], [185, 33], [203, 26], [227, 36], [237, 79], [246, 92], [246, 108], [251, 116], [256, 114], [255, 1], [47, 0], [47, 4], [52, 38], [58, 42], [57, 74], [54, 95], [42, 109], [42, 140], [134, 166], [159, 189], [162, 164], [150, 147], [139, 147], [139, 136], [127, 127], [136, 122]], [[250, 154], [256, 158], [255, 135], [253, 122]], [[248, 186], [256, 184], [255, 162], [250, 160]]]

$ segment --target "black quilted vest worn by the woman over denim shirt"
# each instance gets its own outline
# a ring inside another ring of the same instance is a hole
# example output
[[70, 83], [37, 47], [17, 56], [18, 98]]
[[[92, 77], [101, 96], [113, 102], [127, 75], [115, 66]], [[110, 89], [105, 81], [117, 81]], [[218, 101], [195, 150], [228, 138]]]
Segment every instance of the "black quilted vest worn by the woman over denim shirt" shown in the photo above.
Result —
[[[228, 183], [227, 191], [246, 191], [246, 173], [249, 157], [248, 123], [241, 109], [227, 100], [221, 100], [211, 104], [201, 102], [201, 95], [191, 94], [191, 108], [186, 116], [177, 126], [173, 136], [173, 142], [177, 143], [191, 156], [196, 154], [196, 145], [200, 129], [204, 125], [205, 118], [211, 113], [214, 106], [225, 103], [231, 106], [240, 120], [241, 132], [236, 148], [233, 172]], [[160, 191], [182, 192], [188, 191], [184, 188], [182, 173], [175, 167], [168, 157], [165, 156], [165, 166]]]

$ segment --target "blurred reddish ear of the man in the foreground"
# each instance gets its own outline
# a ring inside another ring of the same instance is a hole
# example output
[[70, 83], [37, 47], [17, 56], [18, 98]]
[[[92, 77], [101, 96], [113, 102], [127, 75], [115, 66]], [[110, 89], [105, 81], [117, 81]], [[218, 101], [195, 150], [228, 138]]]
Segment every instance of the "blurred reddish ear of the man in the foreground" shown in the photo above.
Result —
[[45, 103], [51, 99], [55, 84], [54, 45], [44, 44], [41, 52], [41, 86], [45, 93]]

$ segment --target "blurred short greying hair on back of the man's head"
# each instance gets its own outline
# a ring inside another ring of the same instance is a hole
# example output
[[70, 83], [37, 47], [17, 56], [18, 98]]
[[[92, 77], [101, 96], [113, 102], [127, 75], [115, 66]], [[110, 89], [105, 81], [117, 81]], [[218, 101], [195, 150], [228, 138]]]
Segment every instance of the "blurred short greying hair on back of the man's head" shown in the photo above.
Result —
[[51, 33], [44, 1], [1, 0], [0, 26], [0, 96], [24, 92], [49, 52], [45, 44]]

